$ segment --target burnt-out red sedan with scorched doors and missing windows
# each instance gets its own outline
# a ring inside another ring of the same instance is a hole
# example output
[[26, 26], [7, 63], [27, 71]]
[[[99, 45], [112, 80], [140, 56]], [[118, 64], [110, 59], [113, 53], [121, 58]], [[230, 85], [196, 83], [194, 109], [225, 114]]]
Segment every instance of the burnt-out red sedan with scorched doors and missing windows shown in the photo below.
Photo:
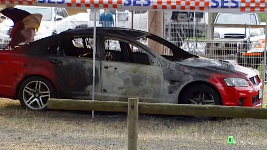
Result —
[[[155, 53], [141, 38], [173, 55]], [[96, 45], [92, 39], [93, 28], [78, 28], [0, 51], [0, 95], [39, 111], [47, 110], [48, 98], [91, 100], [96, 46], [96, 100], [261, 107], [263, 84], [249, 68], [198, 57], [134, 29], [97, 27]]]

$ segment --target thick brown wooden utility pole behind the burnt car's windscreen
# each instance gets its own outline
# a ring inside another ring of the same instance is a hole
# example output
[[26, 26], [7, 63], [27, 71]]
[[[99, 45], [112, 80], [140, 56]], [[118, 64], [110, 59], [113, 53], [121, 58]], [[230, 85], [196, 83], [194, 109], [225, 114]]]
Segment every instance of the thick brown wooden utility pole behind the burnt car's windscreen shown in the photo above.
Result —
[[[147, 12], [147, 32], [155, 34], [163, 38], [163, 11], [148, 11]], [[157, 52], [163, 54], [163, 45], [147, 39], [147, 46]]]

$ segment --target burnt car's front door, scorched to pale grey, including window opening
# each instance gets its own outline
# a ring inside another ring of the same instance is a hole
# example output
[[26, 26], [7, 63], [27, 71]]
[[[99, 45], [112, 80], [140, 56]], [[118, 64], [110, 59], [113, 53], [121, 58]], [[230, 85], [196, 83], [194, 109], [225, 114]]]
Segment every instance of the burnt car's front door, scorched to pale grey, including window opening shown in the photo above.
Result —
[[132, 53], [130, 44], [120, 39], [105, 38], [99, 47], [106, 56], [100, 63], [102, 100], [161, 101], [162, 68], [151, 65], [148, 54]]

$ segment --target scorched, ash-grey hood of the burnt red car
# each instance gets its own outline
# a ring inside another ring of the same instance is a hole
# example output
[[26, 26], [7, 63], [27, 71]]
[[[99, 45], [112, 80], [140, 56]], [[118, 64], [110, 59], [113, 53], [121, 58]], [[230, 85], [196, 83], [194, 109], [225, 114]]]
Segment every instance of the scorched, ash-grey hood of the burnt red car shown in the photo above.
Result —
[[256, 76], [256, 72], [240, 65], [232, 64], [230, 62], [221, 61], [221, 60], [214, 60], [208, 58], [194, 58], [189, 61], [181, 61], [177, 62], [182, 65], [191, 66], [191, 67], [198, 67], [208, 70], [213, 70], [218, 73], [235, 73], [239, 76], [246, 76], [247, 78]]

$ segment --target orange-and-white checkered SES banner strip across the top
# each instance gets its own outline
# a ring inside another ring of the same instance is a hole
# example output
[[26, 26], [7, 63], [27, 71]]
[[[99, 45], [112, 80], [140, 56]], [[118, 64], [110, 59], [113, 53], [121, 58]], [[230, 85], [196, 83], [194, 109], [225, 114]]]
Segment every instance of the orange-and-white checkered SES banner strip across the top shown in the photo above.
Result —
[[267, 12], [267, 0], [0, 0], [1, 4], [196, 12]]

